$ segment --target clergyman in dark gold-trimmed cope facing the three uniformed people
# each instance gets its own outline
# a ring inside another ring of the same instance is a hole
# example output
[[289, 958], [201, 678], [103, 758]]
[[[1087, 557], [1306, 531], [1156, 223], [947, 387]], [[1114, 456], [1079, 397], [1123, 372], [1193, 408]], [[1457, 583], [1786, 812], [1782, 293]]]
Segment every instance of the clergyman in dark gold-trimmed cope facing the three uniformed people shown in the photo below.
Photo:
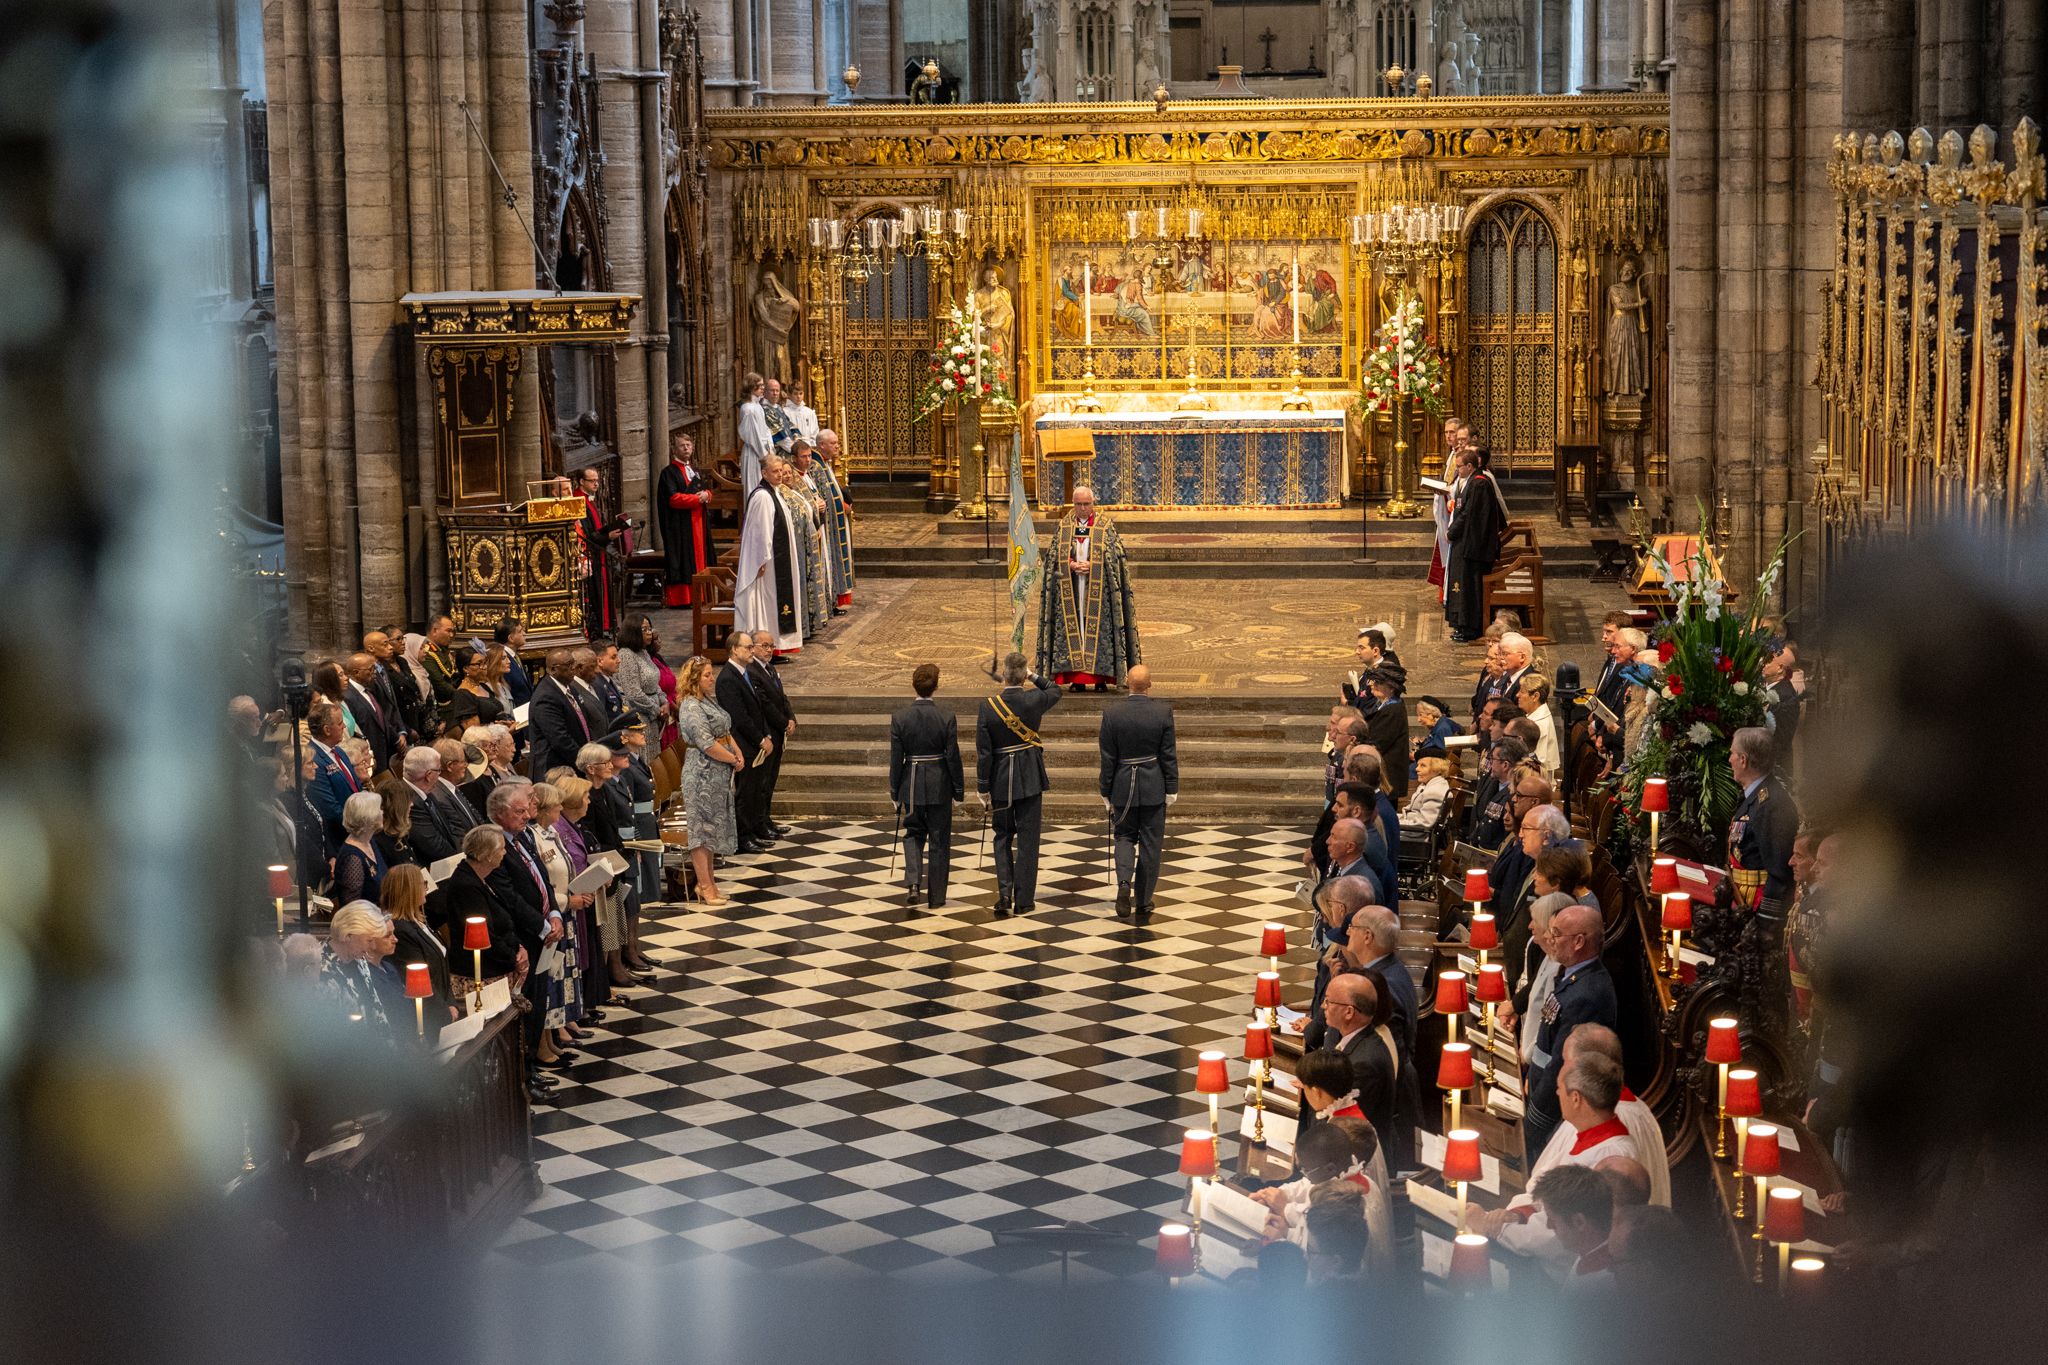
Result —
[[1124, 542], [1110, 518], [1096, 514], [1096, 491], [1083, 483], [1053, 532], [1038, 589], [1038, 675], [1073, 692], [1104, 692], [1141, 657]]

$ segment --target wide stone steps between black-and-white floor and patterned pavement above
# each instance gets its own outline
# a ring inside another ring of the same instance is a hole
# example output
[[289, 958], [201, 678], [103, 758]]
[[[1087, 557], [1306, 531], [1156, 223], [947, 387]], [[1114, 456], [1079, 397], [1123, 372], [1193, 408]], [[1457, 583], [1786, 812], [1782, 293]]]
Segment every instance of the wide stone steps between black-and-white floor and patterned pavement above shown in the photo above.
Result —
[[[1102, 819], [1096, 733], [1114, 694], [1069, 692], [1047, 716], [1047, 821]], [[889, 716], [895, 696], [793, 696], [799, 729], [782, 763], [776, 808], [801, 817], [883, 819], [889, 804]], [[975, 706], [981, 696], [946, 696], [961, 720], [961, 755], [973, 812]], [[1176, 702], [1180, 802], [1176, 821], [1204, 825], [1274, 823], [1305, 833], [1323, 810], [1321, 698], [1221, 698]]]

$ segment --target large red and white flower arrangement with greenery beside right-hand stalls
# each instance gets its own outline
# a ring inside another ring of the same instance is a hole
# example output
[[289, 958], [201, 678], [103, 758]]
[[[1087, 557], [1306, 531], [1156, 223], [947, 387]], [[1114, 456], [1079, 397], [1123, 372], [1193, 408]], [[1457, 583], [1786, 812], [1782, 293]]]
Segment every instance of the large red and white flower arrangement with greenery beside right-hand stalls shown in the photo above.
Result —
[[[1702, 524], [1706, 512], [1702, 510]], [[1708, 557], [1708, 540], [1688, 538], [1690, 555], [1671, 563], [1655, 544], [1645, 555], [1671, 593], [1671, 618], [1630, 665], [1630, 677], [1649, 686], [1651, 712], [1642, 739], [1628, 757], [1624, 792], [1640, 810], [1642, 780], [1671, 784], [1669, 825], [1690, 829], [1706, 847], [1716, 847], [1743, 794], [1729, 772], [1729, 741], [1735, 731], [1765, 724], [1763, 661], [1769, 630], [1763, 606], [1784, 571], [1786, 544], [1749, 593], [1749, 608], [1729, 606], [1726, 585]]]

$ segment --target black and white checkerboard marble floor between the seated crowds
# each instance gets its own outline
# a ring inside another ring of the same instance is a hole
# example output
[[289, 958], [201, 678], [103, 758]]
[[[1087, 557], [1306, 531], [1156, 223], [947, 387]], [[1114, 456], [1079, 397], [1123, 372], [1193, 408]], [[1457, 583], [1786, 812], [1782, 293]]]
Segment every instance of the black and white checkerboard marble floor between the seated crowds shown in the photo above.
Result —
[[1038, 911], [993, 919], [975, 814], [938, 913], [903, 907], [887, 825], [799, 829], [721, 872], [731, 905], [651, 907], [664, 972], [537, 1109], [545, 1193], [494, 1254], [1057, 1277], [1055, 1252], [991, 1230], [1071, 1218], [1130, 1238], [1075, 1279], [1147, 1269], [1180, 1134], [1206, 1117], [1194, 1056], [1235, 1058], [1257, 927], [1300, 923], [1300, 833], [1169, 825], [1139, 929], [1114, 917], [1100, 827], [1047, 829]]

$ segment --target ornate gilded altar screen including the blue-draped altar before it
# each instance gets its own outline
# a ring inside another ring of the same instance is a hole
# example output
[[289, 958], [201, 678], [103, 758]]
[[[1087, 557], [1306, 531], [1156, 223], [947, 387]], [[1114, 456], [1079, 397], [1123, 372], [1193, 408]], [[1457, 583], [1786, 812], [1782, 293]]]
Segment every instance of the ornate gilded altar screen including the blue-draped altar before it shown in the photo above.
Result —
[[807, 379], [854, 475], [944, 508], [987, 467], [999, 499], [1008, 440], [956, 405], [911, 422], [961, 305], [1032, 487], [1079, 426], [1106, 505], [1319, 508], [1430, 473], [1393, 467], [1399, 436], [1430, 448], [1419, 413], [1358, 411], [1415, 297], [1497, 469], [1593, 444], [1589, 477], [1657, 479], [1667, 121], [1661, 96], [713, 111], [733, 364]]

